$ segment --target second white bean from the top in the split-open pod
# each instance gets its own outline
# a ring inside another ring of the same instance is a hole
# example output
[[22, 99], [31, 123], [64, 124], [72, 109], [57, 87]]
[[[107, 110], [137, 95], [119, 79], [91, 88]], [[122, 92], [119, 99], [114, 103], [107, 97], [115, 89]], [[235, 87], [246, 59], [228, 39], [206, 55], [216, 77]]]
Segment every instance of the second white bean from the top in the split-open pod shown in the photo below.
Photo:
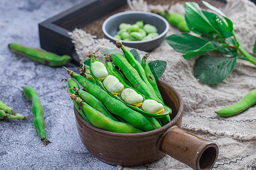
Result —
[[123, 90], [123, 84], [113, 75], [106, 76], [103, 80], [103, 85], [113, 95], [117, 95]]

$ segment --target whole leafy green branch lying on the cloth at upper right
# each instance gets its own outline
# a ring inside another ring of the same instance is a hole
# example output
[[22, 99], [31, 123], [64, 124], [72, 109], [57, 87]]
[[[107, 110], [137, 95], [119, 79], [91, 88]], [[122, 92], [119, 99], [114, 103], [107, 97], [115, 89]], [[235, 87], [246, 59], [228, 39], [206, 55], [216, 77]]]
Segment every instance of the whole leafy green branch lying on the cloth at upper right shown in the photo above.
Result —
[[[204, 54], [196, 61], [195, 77], [207, 84], [222, 82], [234, 69], [237, 59], [245, 59], [256, 65], [251, 56], [238, 42], [233, 23], [218, 8], [202, 1], [205, 6], [220, 14], [203, 11], [195, 2], [185, 3], [185, 20], [188, 28], [199, 36], [189, 33], [177, 33], [166, 37], [166, 42], [177, 52], [183, 53], [185, 59], [207, 52], [218, 52], [221, 56]], [[256, 42], [254, 53], [256, 52]], [[238, 53], [240, 56], [238, 56]], [[217, 54], [217, 53], [216, 53]]]

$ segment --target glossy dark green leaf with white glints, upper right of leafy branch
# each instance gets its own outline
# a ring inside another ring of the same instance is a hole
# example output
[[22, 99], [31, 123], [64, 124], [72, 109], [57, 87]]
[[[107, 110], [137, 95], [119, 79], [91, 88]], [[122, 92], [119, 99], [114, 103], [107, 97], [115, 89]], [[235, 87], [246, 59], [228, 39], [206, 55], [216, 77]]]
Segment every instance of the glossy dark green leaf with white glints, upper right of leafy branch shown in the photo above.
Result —
[[227, 38], [227, 37], [233, 36], [228, 26], [223, 22], [221, 18], [218, 17], [218, 15], [208, 11], [203, 11], [203, 14], [209, 20], [209, 22], [213, 25], [213, 27], [217, 30], [217, 33], [220, 34], [220, 37], [218, 37], [218, 40], [220, 42], [222, 41], [222, 37]]

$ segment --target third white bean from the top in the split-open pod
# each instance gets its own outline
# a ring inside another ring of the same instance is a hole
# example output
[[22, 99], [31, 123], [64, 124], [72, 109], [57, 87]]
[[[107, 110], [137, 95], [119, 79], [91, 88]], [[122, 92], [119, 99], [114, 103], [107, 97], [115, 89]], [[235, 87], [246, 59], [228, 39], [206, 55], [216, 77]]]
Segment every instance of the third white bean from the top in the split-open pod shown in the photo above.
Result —
[[125, 88], [121, 93], [121, 97], [125, 103], [135, 105], [137, 107], [140, 107], [143, 101], [142, 95], [138, 94], [131, 88]]

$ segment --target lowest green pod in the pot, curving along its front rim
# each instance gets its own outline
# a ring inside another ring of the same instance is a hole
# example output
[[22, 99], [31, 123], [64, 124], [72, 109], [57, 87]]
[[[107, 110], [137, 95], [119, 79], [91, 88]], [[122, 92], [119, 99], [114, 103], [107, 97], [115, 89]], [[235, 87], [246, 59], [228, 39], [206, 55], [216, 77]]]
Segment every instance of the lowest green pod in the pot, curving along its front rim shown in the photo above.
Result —
[[135, 128], [129, 124], [118, 122], [106, 117], [105, 114], [97, 111], [89, 104], [85, 103], [74, 94], [69, 94], [72, 100], [76, 101], [78, 105], [82, 108], [82, 111], [86, 113], [86, 116], [92, 122], [93, 126], [99, 129], [112, 131], [115, 133], [142, 133], [143, 131]]

